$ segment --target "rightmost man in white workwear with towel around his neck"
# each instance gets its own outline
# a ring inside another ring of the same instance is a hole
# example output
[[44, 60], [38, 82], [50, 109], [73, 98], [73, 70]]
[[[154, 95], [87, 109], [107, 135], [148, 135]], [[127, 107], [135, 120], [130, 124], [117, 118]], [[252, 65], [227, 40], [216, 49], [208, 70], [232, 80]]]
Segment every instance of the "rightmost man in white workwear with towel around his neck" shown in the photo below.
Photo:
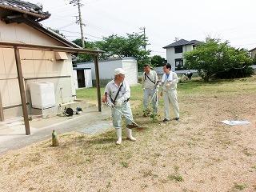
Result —
[[164, 74], [162, 75], [162, 92], [164, 108], [165, 108], [165, 118], [163, 122], [170, 121], [170, 104], [174, 109], [175, 120], [179, 119], [179, 108], [178, 108], [178, 98], [177, 98], [177, 83], [178, 76], [176, 73], [171, 71], [171, 66], [167, 63], [163, 66]]

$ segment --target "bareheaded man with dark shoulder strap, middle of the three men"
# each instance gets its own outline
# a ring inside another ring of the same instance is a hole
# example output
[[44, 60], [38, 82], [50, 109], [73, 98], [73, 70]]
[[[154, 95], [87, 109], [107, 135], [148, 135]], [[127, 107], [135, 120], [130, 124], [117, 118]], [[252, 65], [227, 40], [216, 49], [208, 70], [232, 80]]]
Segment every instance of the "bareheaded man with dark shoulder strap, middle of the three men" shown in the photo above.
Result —
[[[149, 114], [148, 102], [152, 101], [153, 114], [158, 113], [158, 95], [156, 93], [158, 89], [158, 74], [154, 70], [150, 69], [150, 65], [144, 66], [144, 73], [142, 74], [142, 88], [143, 88], [143, 106], [144, 106], [144, 114]], [[154, 96], [154, 98], [152, 98]], [[150, 101], [149, 101], [150, 99]]]

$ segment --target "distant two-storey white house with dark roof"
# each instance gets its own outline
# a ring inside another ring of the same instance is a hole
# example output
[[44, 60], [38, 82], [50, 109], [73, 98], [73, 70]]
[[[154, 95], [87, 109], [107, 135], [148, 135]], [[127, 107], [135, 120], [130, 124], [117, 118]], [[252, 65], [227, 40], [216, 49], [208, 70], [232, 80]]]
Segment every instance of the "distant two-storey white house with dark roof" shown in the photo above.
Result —
[[168, 46], [164, 46], [163, 48], [166, 49], [166, 59], [172, 66], [172, 70], [183, 70], [186, 66], [183, 54], [193, 50], [194, 47], [200, 43], [202, 42], [199, 42], [198, 40], [187, 41], [185, 39], [180, 39]]

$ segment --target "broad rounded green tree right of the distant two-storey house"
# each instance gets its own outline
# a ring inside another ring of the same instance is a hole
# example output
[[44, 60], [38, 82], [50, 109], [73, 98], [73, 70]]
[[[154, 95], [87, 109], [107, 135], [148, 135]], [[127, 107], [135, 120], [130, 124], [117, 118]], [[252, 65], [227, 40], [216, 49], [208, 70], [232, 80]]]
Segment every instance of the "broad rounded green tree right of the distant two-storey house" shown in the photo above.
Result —
[[222, 78], [231, 78], [232, 75], [229, 73], [234, 73], [234, 70], [238, 70], [237, 74], [243, 73], [242, 70], [247, 70], [252, 62], [247, 50], [235, 49], [229, 45], [229, 42], [221, 42], [213, 38], [206, 38], [205, 43], [187, 52], [184, 58], [186, 66], [198, 70], [204, 81], [209, 81], [214, 74], [217, 77], [218, 74], [222, 74], [220, 75]]

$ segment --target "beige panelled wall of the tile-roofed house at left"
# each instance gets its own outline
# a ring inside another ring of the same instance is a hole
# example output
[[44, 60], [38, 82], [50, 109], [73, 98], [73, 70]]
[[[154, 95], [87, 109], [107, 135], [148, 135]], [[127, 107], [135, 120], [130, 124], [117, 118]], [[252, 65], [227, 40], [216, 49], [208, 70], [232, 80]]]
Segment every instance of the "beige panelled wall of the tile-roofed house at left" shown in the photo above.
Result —
[[[24, 42], [48, 46], [63, 46], [61, 42], [25, 24], [0, 21], [0, 41]], [[71, 54], [67, 60], [56, 60], [54, 51], [20, 50], [27, 101], [30, 102], [30, 82], [54, 82], [56, 103], [72, 102], [75, 95]], [[22, 115], [18, 74], [14, 49], [0, 48], [0, 91], [5, 118]]]

